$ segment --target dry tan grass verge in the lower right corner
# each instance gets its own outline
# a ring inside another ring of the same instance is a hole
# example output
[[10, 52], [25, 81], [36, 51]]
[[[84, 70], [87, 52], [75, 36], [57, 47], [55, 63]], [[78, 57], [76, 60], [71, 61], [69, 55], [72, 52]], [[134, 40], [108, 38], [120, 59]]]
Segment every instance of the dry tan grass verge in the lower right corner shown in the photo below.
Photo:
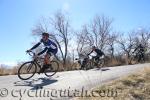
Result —
[[[112, 92], [108, 93], [107, 90]], [[77, 99], [150, 100], [150, 68], [144, 68], [144, 70], [138, 72], [137, 74], [133, 74], [103, 86], [94, 88], [91, 91], [96, 91], [94, 96], [97, 95], [98, 97], [82, 97]], [[100, 94], [101, 91], [103, 91], [103, 94]]]

